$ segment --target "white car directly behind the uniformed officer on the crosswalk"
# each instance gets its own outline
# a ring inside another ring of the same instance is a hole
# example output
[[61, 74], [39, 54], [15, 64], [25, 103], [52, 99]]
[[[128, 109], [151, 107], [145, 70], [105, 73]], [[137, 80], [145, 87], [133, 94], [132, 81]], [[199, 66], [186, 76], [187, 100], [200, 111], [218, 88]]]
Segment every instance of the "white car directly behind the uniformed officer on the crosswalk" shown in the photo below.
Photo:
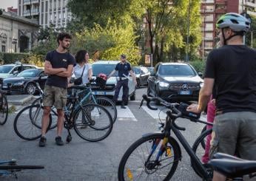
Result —
[[[96, 61], [92, 64], [92, 78], [96, 78], [96, 76], [100, 73], [104, 73], [106, 75], [110, 75], [110, 72], [112, 72], [113, 69], [115, 69], [116, 64], [118, 64], [120, 61]], [[132, 77], [129, 76], [129, 98], [130, 100], [135, 100], [135, 83], [132, 81]], [[95, 95], [102, 95], [109, 98], [113, 98], [115, 95], [115, 86], [117, 83], [118, 78], [118, 72], [115, 73], [115, 75], [112, 75], [111, 78], [107, 80], [106, 86], [104, 89], [101, 88], [93, 88], [92, 91]], [[118, 100], [122, 100], [123, 90], [120, 90]]]

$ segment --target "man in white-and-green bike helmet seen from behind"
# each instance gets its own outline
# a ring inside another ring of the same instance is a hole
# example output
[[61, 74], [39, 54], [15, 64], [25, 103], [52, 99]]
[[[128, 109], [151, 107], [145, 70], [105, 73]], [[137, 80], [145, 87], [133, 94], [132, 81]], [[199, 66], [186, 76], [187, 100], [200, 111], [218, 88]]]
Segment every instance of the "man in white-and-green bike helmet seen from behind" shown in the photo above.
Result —
[[[187, 111], [202, 112], [215, 85], [210, 157], [223, 152], [256, 160], [256, 51], [243, 44], [250, 21], [238, 13], [227, 13], [216, 27], [221, 46], [209, 53], [198, 104], [190, 105]], [[226, 178], [215, 172], [213, 180]]]

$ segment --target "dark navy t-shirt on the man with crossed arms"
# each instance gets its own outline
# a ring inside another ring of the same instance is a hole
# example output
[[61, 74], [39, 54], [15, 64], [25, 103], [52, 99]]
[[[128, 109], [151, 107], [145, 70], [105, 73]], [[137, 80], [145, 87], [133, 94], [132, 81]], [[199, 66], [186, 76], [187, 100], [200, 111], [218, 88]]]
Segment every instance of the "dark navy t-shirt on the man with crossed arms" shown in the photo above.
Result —
[[[67, 69], [67, 66], [75, 64], [75, 58], [70, 54], [70, 52], [59, 53], [56, 50], [48, 52], [45, 60], [50, 61], [53, 68]], [[67, 78], [58, 75], [49, 75], [45, 84], [48, 86], [58, 86], [66, 89]]]

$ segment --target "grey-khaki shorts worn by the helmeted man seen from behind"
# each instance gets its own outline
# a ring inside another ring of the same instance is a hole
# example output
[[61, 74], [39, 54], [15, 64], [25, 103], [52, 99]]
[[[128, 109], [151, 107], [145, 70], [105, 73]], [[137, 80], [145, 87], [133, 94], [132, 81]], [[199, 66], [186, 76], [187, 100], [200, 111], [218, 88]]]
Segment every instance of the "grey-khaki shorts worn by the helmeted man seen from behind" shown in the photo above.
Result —
[[215, 117], [209, 157], [216, 152], [256, 160], [256, 113], [228, 112]]

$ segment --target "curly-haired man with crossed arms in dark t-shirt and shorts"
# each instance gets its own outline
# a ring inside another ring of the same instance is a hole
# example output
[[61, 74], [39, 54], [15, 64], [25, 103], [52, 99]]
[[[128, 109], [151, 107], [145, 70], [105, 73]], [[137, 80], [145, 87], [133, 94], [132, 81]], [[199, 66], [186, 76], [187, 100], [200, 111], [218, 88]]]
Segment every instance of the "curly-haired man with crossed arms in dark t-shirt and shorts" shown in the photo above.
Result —
[[51, 106], [55, 106], [58, 112], [57, 120], [57, 137], [55, 142], [58, 146], [64, 145], [61, 140], [61, 132], [64, 126], [64, 112], [63, 108], [66, 104], [67, 97], [67, 78], [73, 72], [73, 65], [75, 58], [67, 48], [70, 46], [71, 35], [67, 33], [60, 33], [58, 35], [58, 48], [52, 52], [48, 52], [44, 62], [44, 72], [47, 73], [48, 78], [44, 87], [44, 114], [41, 125], [41, 139], [39, 146], [46, 145], [46, 131], [49, 123], [49, 115]]

